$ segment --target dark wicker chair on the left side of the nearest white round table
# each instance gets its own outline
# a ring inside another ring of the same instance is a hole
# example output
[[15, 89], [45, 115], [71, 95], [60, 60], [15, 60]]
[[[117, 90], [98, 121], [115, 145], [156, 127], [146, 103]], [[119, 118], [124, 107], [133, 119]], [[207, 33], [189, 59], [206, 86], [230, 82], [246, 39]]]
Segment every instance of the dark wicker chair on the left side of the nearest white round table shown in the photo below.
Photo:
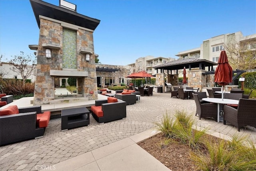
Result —
[[199, 120], [203, 117], [212, 117], [217, 121], [218, 105], [217, 103], [200, 103], [197, 94], [192, 93], [194, 100], [196, 102], [196, 115], [198, 114]]

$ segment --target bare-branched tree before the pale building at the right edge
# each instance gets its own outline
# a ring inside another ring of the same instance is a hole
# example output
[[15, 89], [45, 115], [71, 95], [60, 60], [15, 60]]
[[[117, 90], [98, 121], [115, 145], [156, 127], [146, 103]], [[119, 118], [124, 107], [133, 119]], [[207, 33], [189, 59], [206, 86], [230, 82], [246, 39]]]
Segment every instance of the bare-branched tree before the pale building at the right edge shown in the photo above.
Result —
[[256, 69], [256, 38], [230, 41], [224, 47], [233, 69]]

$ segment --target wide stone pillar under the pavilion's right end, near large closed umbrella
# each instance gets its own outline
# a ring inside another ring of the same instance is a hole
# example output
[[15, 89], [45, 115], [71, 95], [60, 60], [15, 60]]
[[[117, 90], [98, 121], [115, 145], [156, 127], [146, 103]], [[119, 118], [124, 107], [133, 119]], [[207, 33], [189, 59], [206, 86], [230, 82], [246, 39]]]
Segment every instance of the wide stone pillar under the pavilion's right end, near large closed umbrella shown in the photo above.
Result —
[[[205, 70], [192, 70], [187, 72], [188, 77], [188, 87], [199, 88], [202, 91], [202, 87], [206, 87], [206, 76], [202, 73], [206, 72]], [[194, 74], [194, 76], [193, 76]]]

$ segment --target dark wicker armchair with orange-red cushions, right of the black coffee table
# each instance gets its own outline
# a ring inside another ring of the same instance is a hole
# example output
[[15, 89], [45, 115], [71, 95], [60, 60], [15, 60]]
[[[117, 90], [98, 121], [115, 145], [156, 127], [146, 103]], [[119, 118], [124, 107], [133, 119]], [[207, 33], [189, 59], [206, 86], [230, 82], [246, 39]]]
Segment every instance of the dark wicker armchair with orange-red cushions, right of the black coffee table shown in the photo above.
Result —
[[91, 106], [92, 116], [98, 123], [106, 123], [126, 117], [126, 102], [115, 97], [95, 100]]

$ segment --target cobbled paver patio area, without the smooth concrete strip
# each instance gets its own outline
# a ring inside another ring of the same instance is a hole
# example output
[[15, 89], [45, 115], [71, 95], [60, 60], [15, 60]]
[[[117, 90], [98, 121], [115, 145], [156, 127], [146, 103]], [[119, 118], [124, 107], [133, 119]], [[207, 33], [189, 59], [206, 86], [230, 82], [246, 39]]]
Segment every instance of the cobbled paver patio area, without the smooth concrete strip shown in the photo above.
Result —
[[127, 105], [127, 117], [99, 125], [90, 116], [90, 125], [61, 131], [61, 119], [51, 119], [43, 138], [31, 139], [0, 147], [0, 169], [38, 170], [38, 165], [50, 166], [93, 149], [108, 145], [154, 127], [164, 113], [174, 114], [176, 109], [193, 113], [198, 127], [207, 127], [214, 135], [239, 133], [250, 135], [256, 143], [256, 129], [248, 127], [240, 132], [232, 125], [223, 125], [214, 119], [195, 116], [194, 99], [170, 98], [170, 93], [153, 93], [143, 96], [140, 102]]

